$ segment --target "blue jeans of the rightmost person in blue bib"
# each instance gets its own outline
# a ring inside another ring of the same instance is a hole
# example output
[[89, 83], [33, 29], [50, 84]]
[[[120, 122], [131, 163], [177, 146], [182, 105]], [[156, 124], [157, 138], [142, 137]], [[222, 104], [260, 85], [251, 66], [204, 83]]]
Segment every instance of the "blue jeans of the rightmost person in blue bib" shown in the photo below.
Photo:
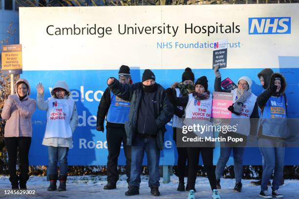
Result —
[[272, 190], [277, 190], [281, 183], [284, 160], [284, 141], [278, 139], [258, 139], [259, 150], [264, 159], [261, 191], [268, 190], [267, 183], [274, 171]]

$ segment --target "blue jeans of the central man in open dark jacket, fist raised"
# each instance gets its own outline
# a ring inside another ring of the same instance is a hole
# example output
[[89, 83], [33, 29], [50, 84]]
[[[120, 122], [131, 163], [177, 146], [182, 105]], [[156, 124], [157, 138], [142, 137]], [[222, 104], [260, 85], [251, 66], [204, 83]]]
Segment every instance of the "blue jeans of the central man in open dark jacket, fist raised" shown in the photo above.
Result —
[[129, 186], [140, 185], [141, 167], [144, 157], [144, 151], [147, 153], [148, 168], [149, 168], [149, 187], [160, 186], [160, 173], [159, 173], [159, 158], [160, 149], [157, 145], [157, 139], [154, 137], [144, 137], [136, 135], [131, 146], [131, 174]]

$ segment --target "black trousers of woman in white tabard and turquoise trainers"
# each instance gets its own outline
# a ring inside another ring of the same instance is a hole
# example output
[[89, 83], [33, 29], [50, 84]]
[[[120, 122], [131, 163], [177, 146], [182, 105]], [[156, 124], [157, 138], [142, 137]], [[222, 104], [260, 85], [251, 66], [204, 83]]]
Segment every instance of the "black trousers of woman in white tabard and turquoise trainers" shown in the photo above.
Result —
[[195, 180], [197, 176], [197, 166], [199, 160], [199, 154], [201, 154], [204, 168], [207, 172], [208, 179], [210, 181], [211, 189], [216, 189], [216, 175], [215, 167], [213, 165], [213, 149], [212, 147], [188, 147], [188, 189], [195, 188]]

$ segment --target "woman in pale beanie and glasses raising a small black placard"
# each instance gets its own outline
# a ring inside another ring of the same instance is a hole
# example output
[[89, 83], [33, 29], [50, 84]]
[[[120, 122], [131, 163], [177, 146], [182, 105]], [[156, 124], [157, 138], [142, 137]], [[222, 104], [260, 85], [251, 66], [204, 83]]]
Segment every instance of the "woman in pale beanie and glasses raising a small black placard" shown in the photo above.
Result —
[[244, 146], [249, 135], [255, 135], [256, 124], [252, 118], [258, 118], [258, 107], [256, 96], [251, 91], [252, 80], [246, 76], [239, 78], [238, 87], [232, 91], [221, 89], [221, 74], [216, 66], [214, 91], [233, 93], [233, 104], [228, 107], [232, 112], [232, 125], [237, 126], [236, 132], [219, 133], [219, 137], [238, 138], [243, 141], [233, 145], [232, 142], [221, 142], [220, 157], [216, 165], [217, 188], [221, 189], [220, 178], [223, 175], [225, 165], [230, 157], [231, 151], [234, 154], [235, 187], [234, 190], [241, 192], [243, 175], [243, 154]]

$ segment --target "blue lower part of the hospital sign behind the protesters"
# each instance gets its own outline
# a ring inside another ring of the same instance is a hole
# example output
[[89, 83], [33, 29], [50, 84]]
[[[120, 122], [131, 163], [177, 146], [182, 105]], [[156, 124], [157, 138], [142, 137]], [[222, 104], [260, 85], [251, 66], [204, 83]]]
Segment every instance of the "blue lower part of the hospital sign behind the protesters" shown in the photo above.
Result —
[[[279, 64], [283, 67], [274, 69], [275, 72], [282, 73], [288, 83], [286, 95], [288, 97], [288, 116], [290, 118], [299, 118], [298, 109], [298, 89], [299, 89], [299, 66], [298, 68], [287, 68], [289, 64], [299, 63], [298, 57], [279, 57]], [[293, 65], [294, 66], [294, 65]], [[191, 66], [192, 67], [192, 66]], [[229, 77], [235, 83], [241, 76], [248, 76], [253, 80], [253, 93], [259, 95], [262, 87], [257, 78], [257, 73], [261, 69], [221, 69], [222, 78]], [[171, 86], [175, 81], [181, 81], [183, 69], [171, 70], [153, 70], [156, 75], [156, 81], [165, 88]], [[214, 91], [214, 72], [211, 69], [194, 69], [195, 79], [200, 76], [207, 76], [209, 80], [209, 90]], [[141, 81], [143, 70], [131, 70], [134, 82]], [[74, 147], [69, 150], [69, 165], [106, 165], [107, 164], [107, 142], [106, 131], [104, 133], [95, 130], [96, 115], [99, 100], [103, 92], [107, 88], [107, 78], [116, 77], [118, 70], [80, 70], [80, 71], [23, 71], [21, 78], [29, 80], [31, 86], [31, 98], [36, 99], [36, 85], [42, 82], [45, 88], [45, 99], [50, 97], [49, 88], [53, 87], [56, 81], [65, 80], [72, 97], [76, 100], [79, 114], [79, 126], [73, 134]], [[30, 165], [47, 165], [47, 148], [42, 145], [45, 125], [46, 112], [37, 110], [33, 117], [33, 136], [30, 148]], [[161, 153], [161, 165], [175, 165], [177, 162], [177, 152], [175, 143], [172, 140], [171, 122], [167, 125], [167, 133], [165, 134], [165, 149]], [[219, 157], [219, 148], [214, 149], [214, 164]], [[202, 161], [201, 161], [202, 163]], [[260, 165], [261, 155], [258, 148], [247, 148], [244, 154], [244, 165]], [[119, 158], [119, 164], [125, 164], [125, 156], [123, 150]], [[146, 164], [146, 157], [144, 159]], [[233, 158], [229, 159], [228, 164], [234, 164]], [[287, 148], [285, 152], [286, 165], [299, 164], [299, 149]]]

